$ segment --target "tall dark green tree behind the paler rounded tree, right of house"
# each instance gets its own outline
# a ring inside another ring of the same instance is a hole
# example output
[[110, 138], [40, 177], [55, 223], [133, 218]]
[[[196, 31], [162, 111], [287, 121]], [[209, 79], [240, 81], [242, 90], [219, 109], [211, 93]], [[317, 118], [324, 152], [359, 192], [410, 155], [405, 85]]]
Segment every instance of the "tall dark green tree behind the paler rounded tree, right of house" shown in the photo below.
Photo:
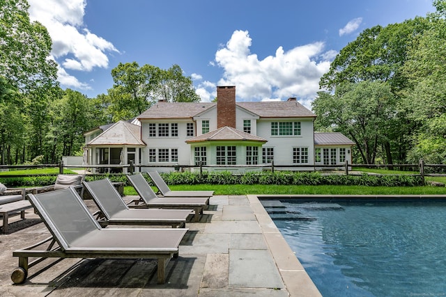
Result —
[[[385, 109], [392, 110], [394, 116], [387, 122], [388, 129], [383, 133], [382, 141], [375, 147], [374, 154], [383, 151], [383, 159], [393, 163], [406, 161], [406, 152], [410, 147], [410, 136], [413, 133], [414, 122], [399, 111], [397, 103], [402, 91], [408, 86], [408, 80], [402, 74], [402, 66], [406, 63], [407, 51], [417, 35], [429, 29], [426, 18], [416, 17], [399, 24], [386, 27], [374, 26], [364, 30], [356, 40], [350, 42], [330, 65], [330, 70], [319, 82], [321, 88], [333, 91], [344, 83], [360, 83], [362, 81], [382, 81], [388, 83], [394, 100]], [[367, 97], [367, 95], [366, 95]], [[337, 99], [336, 96], [332, 99]], [[364, 98], [365, 99], [365, 98]], [[316, 120], [316, 122], [319, 118]], [[348, 131], [343, 131], [348, 133]], [[368, 158], [366, 158], [368, 159]], [[374, 158], [371, 158], [374, 159]], [[369, 161], [371, 160], [369, 159]]]

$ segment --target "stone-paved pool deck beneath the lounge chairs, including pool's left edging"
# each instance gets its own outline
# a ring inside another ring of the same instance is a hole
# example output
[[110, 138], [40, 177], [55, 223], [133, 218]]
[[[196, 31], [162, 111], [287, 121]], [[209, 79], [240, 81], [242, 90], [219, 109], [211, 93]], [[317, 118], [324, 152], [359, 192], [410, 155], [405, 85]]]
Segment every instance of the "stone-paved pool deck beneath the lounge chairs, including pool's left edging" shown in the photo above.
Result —
[[13, 284], [13, 250], [49, 236], [32, 209], [16, 217], [0, 235], [1, 296], [321, 296], [255, 195], [210, 198], [201, 221], [187, 223], [165, 284], [156, 283], [155, 262], [142, 259], [46, 259]]

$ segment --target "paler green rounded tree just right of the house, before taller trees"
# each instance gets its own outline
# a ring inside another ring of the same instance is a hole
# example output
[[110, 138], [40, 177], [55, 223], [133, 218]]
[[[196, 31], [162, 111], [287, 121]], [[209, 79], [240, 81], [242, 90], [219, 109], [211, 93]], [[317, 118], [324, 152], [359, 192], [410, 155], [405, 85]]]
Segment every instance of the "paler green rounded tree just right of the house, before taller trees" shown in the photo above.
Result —
[[313, 109], [318, 127], [342, 131], [355, 143], [362, 162], [373, 164], [378, 148], [387, 141], [387, 125], [394, 118], [394, 95], [384, 81], [342, 83], [334, 94], [319, 92]]

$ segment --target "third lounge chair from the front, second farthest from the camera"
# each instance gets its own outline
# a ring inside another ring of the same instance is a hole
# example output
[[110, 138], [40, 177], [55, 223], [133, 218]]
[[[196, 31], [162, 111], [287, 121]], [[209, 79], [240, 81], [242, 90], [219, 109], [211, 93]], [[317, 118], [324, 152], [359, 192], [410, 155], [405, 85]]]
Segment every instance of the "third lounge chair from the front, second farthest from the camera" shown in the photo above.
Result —
[[203, 209], [208, 207], [209, 198], [159, 198], [141, 173], [127, 175], [128, 180], [139, 194], [138, 200], [131, 201], [130, 208], [160, 207], [162, 209], [194, 209], [194, 220], [197, 222]]

